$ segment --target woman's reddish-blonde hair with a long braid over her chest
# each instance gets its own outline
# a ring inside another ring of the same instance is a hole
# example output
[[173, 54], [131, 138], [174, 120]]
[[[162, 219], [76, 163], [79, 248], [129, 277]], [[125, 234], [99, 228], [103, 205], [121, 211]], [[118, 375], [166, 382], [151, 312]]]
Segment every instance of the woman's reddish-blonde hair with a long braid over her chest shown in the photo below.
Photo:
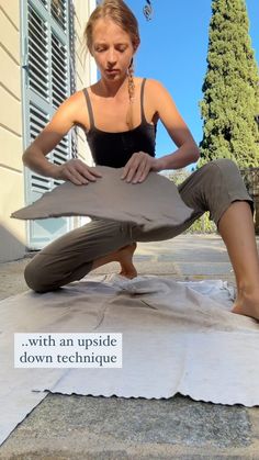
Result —
[[[137, 48], [137, 46], [140, 43], [139, 32], [138, 32], [138, 23], [133, 14], [132, 10], [124, 3], [123, 0], [103, 0], [91, 13], [87, 25], [83, 31], [83, 41], [86, 47], [90, 51], [92, 49], [92, 30], [95, 24], [95, 22], [99, 19], [110, 19], [115, 24], [117, 24], [120, 27], [122, 27], [123, 31], [128, 33], [134, 49]], [[134, 64], [133, 59], [131, 61], [131, 65], [128, 67], [128, 97], [130, 97], [130, 112], [131, 112], [131, 105], [134, 100], [134, 93], [135, 93], [135, 86], [134, 86]], [[132, 116], [128, 114], [127, 122], [131, 125]]]

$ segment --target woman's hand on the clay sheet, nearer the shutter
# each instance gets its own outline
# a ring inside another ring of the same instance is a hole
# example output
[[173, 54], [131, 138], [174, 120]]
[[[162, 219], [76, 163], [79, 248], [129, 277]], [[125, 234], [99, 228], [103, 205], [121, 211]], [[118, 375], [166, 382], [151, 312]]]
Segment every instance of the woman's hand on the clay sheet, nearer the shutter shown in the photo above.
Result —
[[76, 186], [95, 182], [102, 175], [95, 168], [90, 168], [78, 158], [70, 159], [63, 165], [56, 166], [54, 179], [70, 180]]

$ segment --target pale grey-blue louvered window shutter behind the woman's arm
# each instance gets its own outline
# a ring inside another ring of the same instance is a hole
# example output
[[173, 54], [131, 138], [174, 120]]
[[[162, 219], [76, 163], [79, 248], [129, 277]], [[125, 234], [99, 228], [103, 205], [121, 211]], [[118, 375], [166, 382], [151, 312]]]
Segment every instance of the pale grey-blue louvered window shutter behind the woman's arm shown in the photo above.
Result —
[[[50, 120], [60, 103], [76, 91], [75, 30], [71, 0], [22, 0], [23, 117], [25, 147]], [[60, 165], [77, 156], [71, 130], [48, 154]], [[25, 202], [32, 203], [60, 181], [25, 168]], [[27, 246], [42, 249], [71, 228], [72, 220], [48, 218], [27, 224]]]

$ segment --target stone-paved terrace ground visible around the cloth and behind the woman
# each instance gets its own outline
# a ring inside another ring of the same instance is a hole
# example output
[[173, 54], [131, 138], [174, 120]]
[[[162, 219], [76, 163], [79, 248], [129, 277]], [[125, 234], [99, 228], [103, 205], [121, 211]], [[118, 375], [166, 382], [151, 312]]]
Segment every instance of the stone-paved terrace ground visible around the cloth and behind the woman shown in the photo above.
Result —
[[[29, 259], [0, 265], [0, 299], [26, 290]], [[139, 273], [234, 283], [216, 235], [181, 235], [139, 244]], [[95, 273], [117, 271], [116, 263]], [[0, 448], [0, 459], [259, 460], [259, 408], [169, 400], [49, 394]]]

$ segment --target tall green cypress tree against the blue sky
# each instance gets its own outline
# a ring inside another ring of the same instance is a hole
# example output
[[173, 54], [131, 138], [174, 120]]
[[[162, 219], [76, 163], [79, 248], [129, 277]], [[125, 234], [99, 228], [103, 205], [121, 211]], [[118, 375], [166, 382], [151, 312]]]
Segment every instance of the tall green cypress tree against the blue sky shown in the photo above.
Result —
[[245, 0], [213, 0], [207, 70], [200, 101], [201, 164], [230, 158], [259, 166], [259, 75]]

